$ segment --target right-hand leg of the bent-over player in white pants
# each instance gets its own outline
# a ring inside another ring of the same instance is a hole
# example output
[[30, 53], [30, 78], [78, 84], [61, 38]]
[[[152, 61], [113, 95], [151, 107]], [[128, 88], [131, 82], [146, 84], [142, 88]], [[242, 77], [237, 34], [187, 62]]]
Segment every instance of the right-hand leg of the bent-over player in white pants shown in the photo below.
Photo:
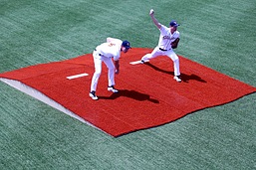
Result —
[[115, 84], [115, 65], [112, 61], [112, 58], [103, 58], [104, 63], [106, 64], [107, 68], [109, 69], [108, 71], [108, 81], [109, 81], [109, 86], [108, 90], [113, 91], [113, 92], [118, 92], [119, 90], [114, 87]]

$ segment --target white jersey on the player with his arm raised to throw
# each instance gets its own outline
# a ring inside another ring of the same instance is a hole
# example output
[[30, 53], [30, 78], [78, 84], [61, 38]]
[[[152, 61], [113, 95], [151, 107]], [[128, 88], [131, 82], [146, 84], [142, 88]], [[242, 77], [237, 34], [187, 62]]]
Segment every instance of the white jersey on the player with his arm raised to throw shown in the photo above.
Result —
[[175, 31], [173, 34], [171, 34], [170, 29], [164, 25], [161, 25], [161, 28], [159, 29], [159, 31], [160, 31], [160, 36], [158, 41], [158, 47], [163, 50], [170, 50], [171, 43], [177, 38], [179, 38], [179, 32]]

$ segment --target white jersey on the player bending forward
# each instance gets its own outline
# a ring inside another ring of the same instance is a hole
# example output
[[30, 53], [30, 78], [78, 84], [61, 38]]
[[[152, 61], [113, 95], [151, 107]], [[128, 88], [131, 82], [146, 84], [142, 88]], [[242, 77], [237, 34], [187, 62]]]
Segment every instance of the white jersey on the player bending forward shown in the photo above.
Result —
[[96, 50], [99, 54], [107, 58], [114, 58], [118, 61], [121, 56], [122, 40], [115, 39], [112, 42], [107, 42], [99, 45]]

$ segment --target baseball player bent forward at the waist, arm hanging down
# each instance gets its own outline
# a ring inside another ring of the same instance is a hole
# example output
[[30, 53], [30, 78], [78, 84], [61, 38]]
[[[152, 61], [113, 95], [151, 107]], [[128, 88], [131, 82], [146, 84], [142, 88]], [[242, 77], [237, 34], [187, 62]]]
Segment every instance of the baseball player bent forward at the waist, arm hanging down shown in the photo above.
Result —
[[[127, 53], [130, 49], [128, 41], [122, 41], [115, 38], [107, 38], [107, 42], [99, 45], [94, 53], [94, 62], [95, 62], [95, 74], [92, 78], [91, 91], [89, 96], [93, 99], [98, 99], [96, 95], [96, 89], [98, 85], [99, 78], [102, 73], [102, 63], [104, 62], [109, 69], [108, 80], [109, 86], [108, 90], [113, 92], [119, 92], [118, 89], [114, 87], [115, 85], [115, 73], [120, 73], [120, 56], [121, 52]], [[114, 63], [113, 63], [114, 60]]]

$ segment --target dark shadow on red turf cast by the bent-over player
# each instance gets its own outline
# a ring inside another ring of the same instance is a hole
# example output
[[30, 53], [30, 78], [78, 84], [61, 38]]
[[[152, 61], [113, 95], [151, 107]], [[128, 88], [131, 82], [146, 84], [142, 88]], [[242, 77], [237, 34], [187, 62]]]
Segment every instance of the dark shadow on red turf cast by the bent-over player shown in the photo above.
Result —
[[148, 100], [153, 103], [159, 103], [157, 99], [151, 98], [150, 95], [141, 93], [135, 90], [119, 89], [118, 93], [113, 93], [111, 96], [98, 96], [100, 99], [116, 99], [121, 96], [126, 96], [138, 101]]

